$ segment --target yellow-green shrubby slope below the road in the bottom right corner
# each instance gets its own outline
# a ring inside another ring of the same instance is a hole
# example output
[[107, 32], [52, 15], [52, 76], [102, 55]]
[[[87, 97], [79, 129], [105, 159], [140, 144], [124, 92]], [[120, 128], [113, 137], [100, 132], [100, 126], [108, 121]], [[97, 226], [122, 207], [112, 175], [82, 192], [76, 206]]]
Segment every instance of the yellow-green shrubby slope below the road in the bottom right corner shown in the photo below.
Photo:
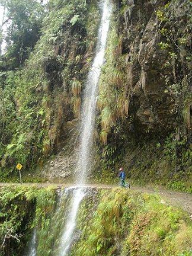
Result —
[[158, 197], [149, 195], [143, 196], [143, 206], [139, 208], [122, 255], [129, 252], [130, 255], [178, 255], [190, 249], [191, 223], [185, 222], [180, 210], [165, 206]]

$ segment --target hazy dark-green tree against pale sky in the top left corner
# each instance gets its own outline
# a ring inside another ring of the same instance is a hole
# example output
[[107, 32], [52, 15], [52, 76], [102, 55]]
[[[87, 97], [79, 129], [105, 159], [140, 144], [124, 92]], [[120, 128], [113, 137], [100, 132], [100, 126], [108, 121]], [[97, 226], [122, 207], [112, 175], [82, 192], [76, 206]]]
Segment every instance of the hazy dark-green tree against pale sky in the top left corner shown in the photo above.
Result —
[[0, 4], [6, 9], [2, 25], [8, 27], [4, 63], [7, 69], [15, 69], [24, 63], [40, 37], [44, 7], [36, 0], [0, 0]]

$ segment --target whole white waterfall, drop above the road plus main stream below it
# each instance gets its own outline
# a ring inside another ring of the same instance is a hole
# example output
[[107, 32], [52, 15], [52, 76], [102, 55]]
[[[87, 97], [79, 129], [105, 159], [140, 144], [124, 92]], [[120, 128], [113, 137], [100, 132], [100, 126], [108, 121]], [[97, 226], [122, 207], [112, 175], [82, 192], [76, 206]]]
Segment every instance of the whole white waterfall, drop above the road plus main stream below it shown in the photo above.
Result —
[[[89, 170], [91, 146], [93, 140], [95, 126], [95, 108], [98, 81], [100, 79], [101, 66], [104, 63], [105, 45], [107, 41], [107, 33], [110, 25], [110, 7], [108, 0], [104, 0], [102, 6], [103, 14], [101, 18], [100, 30], [98, 33], [98, 41], [96, 55], [92, 63], [91, 71], [89, 71], [87, 83], [84, 91], [84, 104], [81, 112], [81, 135], [78, 161], [76, 164], [76, 175], [78, 176], [78, 185], [84, 185], [86, 174]], [[60, 240], [62, 247], [59, 256], [67, 256], [73, 242], [73, 233], [75, 231], [76, 215], [78, 213], [79, 204], [85, 196], [85, 191], [78, 188], [73, 197], [71, 212], [65, 225], [62, 238]]]

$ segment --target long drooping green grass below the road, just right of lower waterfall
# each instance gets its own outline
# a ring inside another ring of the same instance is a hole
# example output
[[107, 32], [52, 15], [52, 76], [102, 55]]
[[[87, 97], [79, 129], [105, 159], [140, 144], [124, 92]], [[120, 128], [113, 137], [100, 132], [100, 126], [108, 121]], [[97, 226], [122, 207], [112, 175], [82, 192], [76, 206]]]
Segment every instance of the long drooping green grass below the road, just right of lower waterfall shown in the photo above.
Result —
[[101, 194], [103, 200], [98, 204], [91, 225], [84, 229], [84, 236], [75, 249], [75, 255], [112, 255], [111, 252], [116, 251], [113, 243], [120, 235], [118, 224], [123, 200], [117, 197], [106, 191]]

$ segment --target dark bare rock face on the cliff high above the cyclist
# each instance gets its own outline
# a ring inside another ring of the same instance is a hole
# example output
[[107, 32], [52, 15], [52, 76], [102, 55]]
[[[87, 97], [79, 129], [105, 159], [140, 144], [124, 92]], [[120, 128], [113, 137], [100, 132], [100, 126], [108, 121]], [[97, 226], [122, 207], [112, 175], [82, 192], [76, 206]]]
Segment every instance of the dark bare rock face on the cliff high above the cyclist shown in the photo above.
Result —
[[[175, 127], [175, 99], [167, 93], [167, 77], [174, 80], [172, 66], [165, 67], [172, 49], [161, 49], [159, 43], [164, 41], [161, 33], [162, 21], [156, 12], [168, 1], [124, 1], [123, 20], [123, 54], [126, 54], [129, 87], [132, 91], [130, 116], [133, 126], [139, 133], [162, 134]], [[176, 1], [170, 7], [175, 21], [186, 15], [185, 1]], [[177, 9], [176, 8], [177, 5]], [[178, 11], [182, 10], [182, 11]], [[166, 24], [167, 21], [164, 21]], [[175, 33], [178, 27], [175, 25]], [[174, 37], [174, 35], [172, 35]], [[171, 42], [172, 43], [172, 42]], [[170, 44], [171, 44], [170, 43]], [[177, 67], [176, 67], [177, 69]], [[175, 71], [177, 73], [177, 70]], [[174, 81], [173, 81], [174, 82]]]

